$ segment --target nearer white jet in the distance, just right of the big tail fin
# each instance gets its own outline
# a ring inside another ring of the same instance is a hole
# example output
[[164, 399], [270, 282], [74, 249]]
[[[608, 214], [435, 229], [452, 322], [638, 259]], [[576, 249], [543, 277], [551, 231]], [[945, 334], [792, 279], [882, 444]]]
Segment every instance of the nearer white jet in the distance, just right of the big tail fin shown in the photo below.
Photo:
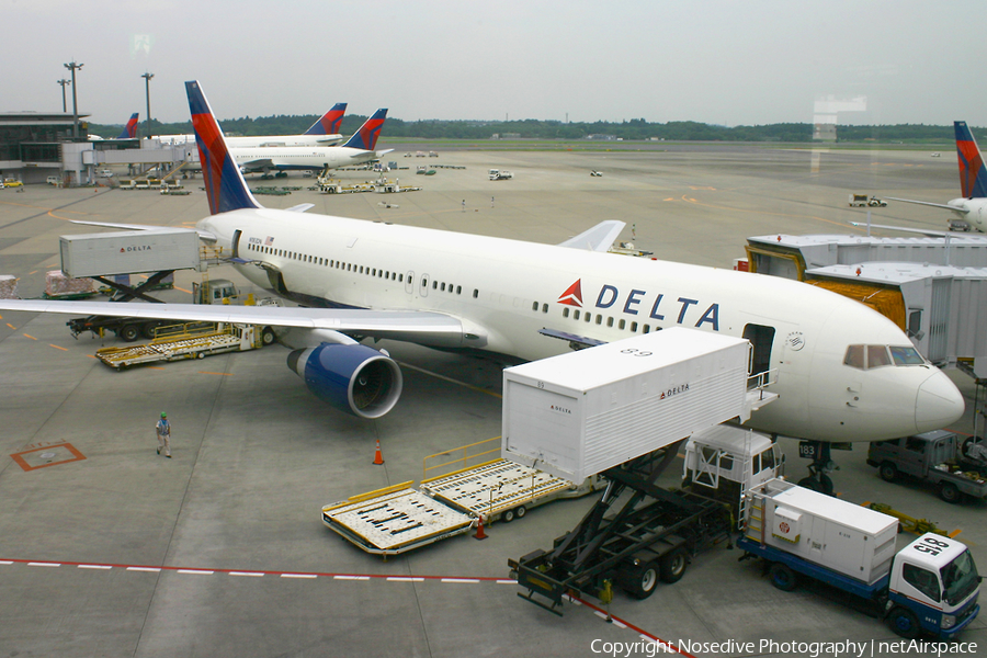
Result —
[[227, 145], [229, 155], [243, 173], [290, 170], [321, 171], [376, 160], [392, 149], [375, 151], [381, 128], [387, 117], [387, 109], [377, 110], [373, 116], [341, 146], [311, 148], [238, 147]]

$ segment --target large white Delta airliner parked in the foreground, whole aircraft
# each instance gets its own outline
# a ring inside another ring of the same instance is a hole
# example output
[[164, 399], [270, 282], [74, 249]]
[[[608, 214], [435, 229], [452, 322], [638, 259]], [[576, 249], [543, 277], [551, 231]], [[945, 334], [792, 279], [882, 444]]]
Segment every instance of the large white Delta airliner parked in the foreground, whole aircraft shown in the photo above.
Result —
[[[530, 361], [673, 326], [750, 340], [751, 372], [767, 373], [779, 398], [747, 424], [815, 441], [825, 461], [828, 442], [904, 436], [963, 415], [950, 378], [871, 308], [787, 279], [606, 253], [621, 222], [553, 246], [264, 208], [198, 83], [185, 88], [212, 213], [194, 230], [251, 282], [308, 308], [0, 299], [0, 309], [280, 327], [308, 389], [363, 418], [390, 411], [402, 386], [398, 365], [363, 339]], [[824, 489], [825, 461], [813, 470]]]

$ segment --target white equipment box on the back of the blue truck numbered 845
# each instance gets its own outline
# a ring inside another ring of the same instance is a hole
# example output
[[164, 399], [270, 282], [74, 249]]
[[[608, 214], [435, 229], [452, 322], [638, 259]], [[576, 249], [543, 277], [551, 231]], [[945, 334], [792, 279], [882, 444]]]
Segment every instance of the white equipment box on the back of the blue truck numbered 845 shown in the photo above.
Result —
[[752, 489], [747, 538], [874, 583], [890, 570], [898, 520], [781, 479]]

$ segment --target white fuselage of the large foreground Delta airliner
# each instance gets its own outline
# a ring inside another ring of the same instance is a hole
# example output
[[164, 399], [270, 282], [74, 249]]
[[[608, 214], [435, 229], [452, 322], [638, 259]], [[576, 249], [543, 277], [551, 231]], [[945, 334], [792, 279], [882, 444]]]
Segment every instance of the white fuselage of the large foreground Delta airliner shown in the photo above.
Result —
[[[446, 314], [476, 336], [472, 345], [522, 360], [569, 349], [543, 328], [608, 342], [672, 326], [747, 337], [752, 371], [770, 370], [769, 390], [779, 395], [749, 423], [768, 432], [876, 441], [941, 428], [964, 408], [928, 363], [844, 365], [850, 344], [911, 343], [876, 311], [804, 283], [268, 208], [224, 213], [200, 227], [220, 245], [240, 231], [238, 254], [281, 272], [292, 294], [328, 306]], [[272, 288], [258, 264], [239, 270]]]

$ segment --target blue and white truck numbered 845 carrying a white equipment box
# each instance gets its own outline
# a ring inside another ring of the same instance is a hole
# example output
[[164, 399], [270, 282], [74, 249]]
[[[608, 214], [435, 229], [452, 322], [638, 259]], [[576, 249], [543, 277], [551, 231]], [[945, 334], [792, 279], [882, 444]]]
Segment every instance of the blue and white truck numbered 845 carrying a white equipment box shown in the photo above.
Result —
[[791, 591], [819, 581], [871, 604], [906, 638], [948, 639], [979, 612], [980, 577], [956, 540], [926, 533], [895, 553], [898, 520], [773, 479], [755, 487], [740, 559], [763, 559], [772, 585]]

